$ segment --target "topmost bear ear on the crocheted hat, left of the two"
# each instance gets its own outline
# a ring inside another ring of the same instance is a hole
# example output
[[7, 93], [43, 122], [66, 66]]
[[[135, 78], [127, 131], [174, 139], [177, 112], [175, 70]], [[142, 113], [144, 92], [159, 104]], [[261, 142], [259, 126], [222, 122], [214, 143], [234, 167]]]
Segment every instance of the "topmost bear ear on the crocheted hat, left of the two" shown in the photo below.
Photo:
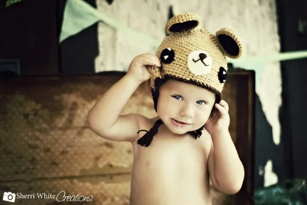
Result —
[[190, 31], [196, 28], [199, 24], [199, 15], [194, 13], [183, 13], [169, 19], [165, 26], [165, 31], [167, 34]]

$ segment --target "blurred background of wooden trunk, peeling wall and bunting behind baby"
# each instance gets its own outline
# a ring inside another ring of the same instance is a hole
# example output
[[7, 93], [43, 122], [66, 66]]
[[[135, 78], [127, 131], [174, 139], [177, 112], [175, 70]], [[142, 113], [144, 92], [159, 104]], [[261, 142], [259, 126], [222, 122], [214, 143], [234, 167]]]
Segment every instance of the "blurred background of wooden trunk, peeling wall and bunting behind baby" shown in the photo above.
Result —
[[[17, 204], [128, 204], [131, 145], [96, 136], [87, 113], [134, 56], [156, 52], [167, 20], [183, 12], [198, 13], [212, 33], [234, 30], [244, 46], [229, 60], [224, 97], [247, 175], [231, 199], [214, 192], [214, 204], [253, 204], [257, 190], [289, 180], [305, 187], [306, 8], [303, 0], [1, 1], [0, 190], [93, 197], [16, 195]], [[130, 112], [156, 116], [144, 85], [122, 113]]]

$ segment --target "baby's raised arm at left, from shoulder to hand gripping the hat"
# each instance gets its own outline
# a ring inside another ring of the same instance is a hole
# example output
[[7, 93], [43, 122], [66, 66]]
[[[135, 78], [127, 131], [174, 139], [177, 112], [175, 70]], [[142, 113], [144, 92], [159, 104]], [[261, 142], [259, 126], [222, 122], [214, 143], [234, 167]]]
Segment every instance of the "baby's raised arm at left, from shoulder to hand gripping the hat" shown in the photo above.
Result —
[[139, 130], [139, 114], [120, 115], [131, 95], [146, 80], [146, 66], [160, 67], [160, 60], [153, 54], [136, 56], [127, 74], [114, 84], [95, 104], [87, 117], [90, 128], [97, 135], [113, 141], [133, 142]]

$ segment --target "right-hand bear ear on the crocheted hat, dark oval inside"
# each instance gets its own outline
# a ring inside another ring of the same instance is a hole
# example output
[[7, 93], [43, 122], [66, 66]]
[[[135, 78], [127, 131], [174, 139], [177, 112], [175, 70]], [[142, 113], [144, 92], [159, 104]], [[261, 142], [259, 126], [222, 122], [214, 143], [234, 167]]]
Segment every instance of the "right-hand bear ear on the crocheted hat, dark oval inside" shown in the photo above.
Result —
[[236, 59], [242, 55], [242, 44], [238, 36], [228, 28], [222, 28], [215, 33], [226, 56]]

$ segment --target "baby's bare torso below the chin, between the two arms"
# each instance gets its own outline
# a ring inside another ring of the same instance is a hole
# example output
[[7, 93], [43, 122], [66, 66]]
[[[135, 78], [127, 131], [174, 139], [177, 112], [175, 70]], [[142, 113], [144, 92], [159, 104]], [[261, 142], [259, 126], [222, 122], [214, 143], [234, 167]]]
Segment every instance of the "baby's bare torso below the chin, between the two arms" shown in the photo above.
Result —
[[197, 201], [192, 204], [207, 204], [208, 150], [201, 144], [205, 141], [184, 137], [190, 138], [158, 135], [149, 147], [136, 147], [131, 198], [141, 202], [135, 204], [149, 204], [152, 200], [156, 200], [153, 204], [179, 204], [174, 201], [191, 197]]

